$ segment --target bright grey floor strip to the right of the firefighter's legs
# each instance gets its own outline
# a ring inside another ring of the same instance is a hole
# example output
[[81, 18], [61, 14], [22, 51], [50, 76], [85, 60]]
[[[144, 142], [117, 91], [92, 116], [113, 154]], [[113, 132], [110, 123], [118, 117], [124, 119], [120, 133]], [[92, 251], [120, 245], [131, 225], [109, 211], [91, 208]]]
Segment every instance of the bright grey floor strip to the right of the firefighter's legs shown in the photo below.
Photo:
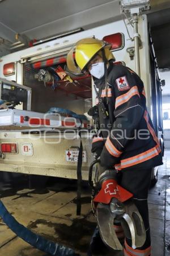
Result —
[[148, 196], [153, 256], [170, 255], [170, 151], [165, 151], [158, 182]]

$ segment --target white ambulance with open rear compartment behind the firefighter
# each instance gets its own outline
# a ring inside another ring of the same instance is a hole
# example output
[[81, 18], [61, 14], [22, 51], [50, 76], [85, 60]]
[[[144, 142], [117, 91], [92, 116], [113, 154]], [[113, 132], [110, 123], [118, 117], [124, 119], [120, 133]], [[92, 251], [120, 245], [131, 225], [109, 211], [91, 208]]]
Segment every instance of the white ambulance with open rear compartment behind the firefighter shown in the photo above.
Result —
[[[0, 110], [0, 171], [77, 179], [82, 140], [82, 177], [88, 179], [94, 159], [92, 120], [86, 113], [96, 95], [91, 76], [71, 74], [66, 56], [78, 40], [90, 37], [111, 43], [116, 63], [141, 76], [163, 152], [162, 82], [147, 15], [126, 18], [1, 57], [0, 99], [6, 107]], [[153, 183], [157, 175], [154, 170]]]

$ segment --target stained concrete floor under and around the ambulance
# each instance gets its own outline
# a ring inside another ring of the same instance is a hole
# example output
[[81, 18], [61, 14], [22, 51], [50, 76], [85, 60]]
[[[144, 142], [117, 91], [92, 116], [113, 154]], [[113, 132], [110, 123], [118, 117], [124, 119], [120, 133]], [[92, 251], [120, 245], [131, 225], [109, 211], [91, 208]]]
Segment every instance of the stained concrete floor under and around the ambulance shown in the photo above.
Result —
[[[26, 186], [27, 187], [27, 186]], [[91, 213], [90, 191], [83, 189], [82, 215], [76, 216], [76, 183], [58, 179], [56, 184], [41, 189], [3, 187], [1, 198], [8, 211], [33, 232], [80, 253], [86, 251], [95, 217]], [[159, 181], [148, 197], [152, 234], [152, 255], [170, 255], [170, 151], [165, 152], [164, 166], [159, 168]], [[48, 256], [16, 237], [0, 222], [0, 256]], [[114, 253], [112, 255], [121, 255]]]

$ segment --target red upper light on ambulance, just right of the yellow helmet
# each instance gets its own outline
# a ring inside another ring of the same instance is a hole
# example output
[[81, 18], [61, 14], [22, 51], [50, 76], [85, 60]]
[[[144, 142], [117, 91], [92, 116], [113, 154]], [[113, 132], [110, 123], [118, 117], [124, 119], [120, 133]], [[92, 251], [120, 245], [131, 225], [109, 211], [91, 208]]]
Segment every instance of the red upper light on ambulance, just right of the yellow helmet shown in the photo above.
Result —
[[112, 44], [112, 51], [118, 51], [125, 46], [125, 39], [124, 39], [124, 34], [122, 33], [116, 33], [116, 34], [111, 34], [104, 36], [103, 38], [104, 41]]

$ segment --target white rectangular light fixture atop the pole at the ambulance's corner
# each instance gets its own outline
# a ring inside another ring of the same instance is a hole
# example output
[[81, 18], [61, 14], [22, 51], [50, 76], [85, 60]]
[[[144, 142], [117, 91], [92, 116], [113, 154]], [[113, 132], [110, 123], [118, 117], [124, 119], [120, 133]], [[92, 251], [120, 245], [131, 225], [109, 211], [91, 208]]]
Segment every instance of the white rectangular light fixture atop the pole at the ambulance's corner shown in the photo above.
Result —
[[150, 10], [150, 0], [121, 0], [121, 11], [133, 15]]

